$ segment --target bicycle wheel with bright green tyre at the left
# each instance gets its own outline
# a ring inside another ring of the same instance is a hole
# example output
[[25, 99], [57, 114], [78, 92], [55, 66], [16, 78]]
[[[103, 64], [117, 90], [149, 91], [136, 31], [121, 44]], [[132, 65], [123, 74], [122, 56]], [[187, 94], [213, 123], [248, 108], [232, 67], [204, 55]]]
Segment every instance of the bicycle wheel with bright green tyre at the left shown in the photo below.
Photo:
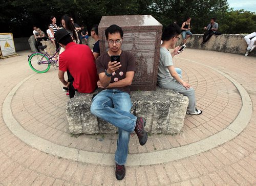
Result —
[[29, 56], [29, 66], [37, 73], [46, 73], [51, 67], [49, 58], [41, 53], [34, 53]]

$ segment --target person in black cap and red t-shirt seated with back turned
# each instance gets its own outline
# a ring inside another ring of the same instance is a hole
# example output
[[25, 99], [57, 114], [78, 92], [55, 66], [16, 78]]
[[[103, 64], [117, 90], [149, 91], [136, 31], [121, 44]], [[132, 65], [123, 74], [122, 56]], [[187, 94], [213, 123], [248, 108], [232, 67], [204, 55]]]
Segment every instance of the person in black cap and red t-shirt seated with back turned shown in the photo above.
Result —
[[87, 45], [73, 42], [66, 29], [59, 29], [55, 33], [55, 39], [65, 49], [59, 55], [59, 80], [67, 85], [64, 78], [67, 70], [74, 78], [69, 87], [70, 98], [74, 97], [75, 91], [92, 93], [97, 87], [98, 75], [91, 49]]

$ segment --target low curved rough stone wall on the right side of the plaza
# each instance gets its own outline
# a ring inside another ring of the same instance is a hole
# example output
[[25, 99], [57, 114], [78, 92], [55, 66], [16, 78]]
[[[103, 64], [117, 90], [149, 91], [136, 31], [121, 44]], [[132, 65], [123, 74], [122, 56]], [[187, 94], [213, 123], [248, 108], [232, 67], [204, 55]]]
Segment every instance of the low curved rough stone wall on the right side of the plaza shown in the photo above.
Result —
[[[189, 49], [201, 49], [218, 52], [226, 52], [232, 54], [245, 54], [247, 43], [244, 40], [244, 34], [222, 34], [213, 35], [203, 45], [200, 45], [203, 41], [203, 34], [193, 34], [187, 40], [187, 48]], [[182, 39], [180, 39], [178, 45], [182, 45]], [[254, 43], [255, 44], [255, 43]], [[254, 49], [249, 56], [256, 56], [256, 49]]]

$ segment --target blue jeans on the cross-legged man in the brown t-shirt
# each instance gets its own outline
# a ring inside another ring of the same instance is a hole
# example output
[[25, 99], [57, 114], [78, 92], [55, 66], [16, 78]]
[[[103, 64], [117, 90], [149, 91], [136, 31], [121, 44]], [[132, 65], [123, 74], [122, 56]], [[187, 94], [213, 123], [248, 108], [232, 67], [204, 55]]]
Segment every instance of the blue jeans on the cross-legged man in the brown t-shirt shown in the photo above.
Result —
[[118, 127], [115, 161], [124, 165], [128, 154], [130, 134], [134, 131], [137, 117], [131, 114], [132, 102], [128, 93], [120, 90], [102, 90], [93, 98], [91, 113]]

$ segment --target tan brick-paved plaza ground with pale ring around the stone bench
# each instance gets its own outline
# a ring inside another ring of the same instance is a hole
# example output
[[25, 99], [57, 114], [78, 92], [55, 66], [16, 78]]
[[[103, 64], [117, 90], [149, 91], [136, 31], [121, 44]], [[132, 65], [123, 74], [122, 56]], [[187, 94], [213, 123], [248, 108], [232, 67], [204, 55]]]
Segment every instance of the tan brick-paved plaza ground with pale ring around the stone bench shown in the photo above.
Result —
[[176, 56], [196, 89], [199, 116], [177, 135], [131, 137], [126, 177], [115, 178], [116, 135], [69, 133], [57, 71], [37, 74], [29, 52], [0, 59], [0, 183], [4, 185], [256, 184], [256, 58], [186, 49]]

